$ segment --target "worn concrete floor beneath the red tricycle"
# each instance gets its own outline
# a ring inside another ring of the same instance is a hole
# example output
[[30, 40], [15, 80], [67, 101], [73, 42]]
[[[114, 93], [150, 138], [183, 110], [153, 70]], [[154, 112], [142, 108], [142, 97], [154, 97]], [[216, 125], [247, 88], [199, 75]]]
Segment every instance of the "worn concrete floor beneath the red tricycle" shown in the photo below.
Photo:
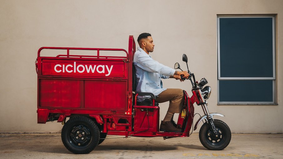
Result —
[[61, 134], [0, 134], [0, 158], [127, 159], [127, 158], [283, 158], [283, 134], [232, 134], [222, 151], [206, 150], [198, 133], [163, 140], [162, 137], [107, 136], [91, 153], [75, 155], [61, 141]]

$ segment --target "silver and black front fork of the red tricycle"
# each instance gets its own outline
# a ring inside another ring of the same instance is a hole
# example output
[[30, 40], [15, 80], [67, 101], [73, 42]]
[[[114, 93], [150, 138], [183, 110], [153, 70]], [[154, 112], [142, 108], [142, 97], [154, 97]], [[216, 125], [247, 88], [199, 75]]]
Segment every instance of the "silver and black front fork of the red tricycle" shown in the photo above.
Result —
[[218, 137], [219, 133], [217, 132], [216, 127], [214, 125], [214, 120], [213, 120], [212, 116], [210, 115], [210, 113], [209, 113], [209, 111], [207, 109], [207, 105], [208, 104], [207, 104], [206, 100], [204, 100], [204, 98], [203, 98], [203, 96], [201, 94], [201, 89], [199, 88], [199, 89], [195, 90], [195, 92], [198, 94], [198, 97], [200, 99], [200, 103], [198, 103], [198, 105], [201, 105], [203, 113], [206, 116], [206, 121], [208, 122], [211, 131], [214, 132], [215, 137]]

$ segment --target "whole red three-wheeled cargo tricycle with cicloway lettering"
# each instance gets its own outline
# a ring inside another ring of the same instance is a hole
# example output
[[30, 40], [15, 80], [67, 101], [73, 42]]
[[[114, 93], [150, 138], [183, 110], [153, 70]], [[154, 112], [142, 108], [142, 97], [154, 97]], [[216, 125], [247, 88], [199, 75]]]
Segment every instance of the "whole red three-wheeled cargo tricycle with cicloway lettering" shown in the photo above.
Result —
[[[37, 123], [62, 122], [64, 146], [75, 154], [86, 154], [101, 144], [107, 135], [189, 137], [194, 118], [193, 103], [196, 103], [204, 112], [194, 126], [196, 130], [205, 121], [199, 132], [201, 144], [209, 150], [222, 150], [228, 146], [230, 128], [225, 122], [213, 119], [214, 115], [224, 115], [210, 113], [207, 109], [206, 100], [211, 88], [204, 87], [205, 78], [197, 82], [189, 69], [192, 96], [183, 91], [185, 102], [176, 123], [183, 132], [159, 131], [156, 97], [148, 92], [135, 92], [135, 48], [133, 36], [129, 37], [128, 52], [111, 48], [41, 47], [36, 61]], [[65, 51], [51, 57], [41, 56], [42, 50], [47, 53]], [[79, 51], [92, 54], [77, 53]], [[187, 60], [184, 54], [183, 61], [187, 63]], [[180, 69], [179, 63], [175, 64], [175, 69]], [[137, 96], [151, 96], [152, 100], [137, 102]]]

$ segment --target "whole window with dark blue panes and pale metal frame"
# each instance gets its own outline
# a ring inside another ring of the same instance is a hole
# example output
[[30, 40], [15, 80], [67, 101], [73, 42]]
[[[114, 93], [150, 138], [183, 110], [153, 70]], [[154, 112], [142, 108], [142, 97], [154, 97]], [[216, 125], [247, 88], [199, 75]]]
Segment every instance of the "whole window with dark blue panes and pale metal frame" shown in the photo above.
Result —
[[218, 104], [275, 103], [275, 17], [217, 17]]

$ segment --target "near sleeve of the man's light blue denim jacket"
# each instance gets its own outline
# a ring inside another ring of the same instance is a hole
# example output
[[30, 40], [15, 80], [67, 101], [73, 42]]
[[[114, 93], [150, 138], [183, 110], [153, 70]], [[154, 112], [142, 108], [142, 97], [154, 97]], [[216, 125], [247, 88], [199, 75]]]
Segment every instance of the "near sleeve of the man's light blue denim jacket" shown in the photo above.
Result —
[[156, 72], [167, 77], [173, 76], [175, 73], [174, 69], [162, 65], [161, 63], [153, 60], [147, 54], [142, 53], [138, 55], [137, 66], [148, 72]]

